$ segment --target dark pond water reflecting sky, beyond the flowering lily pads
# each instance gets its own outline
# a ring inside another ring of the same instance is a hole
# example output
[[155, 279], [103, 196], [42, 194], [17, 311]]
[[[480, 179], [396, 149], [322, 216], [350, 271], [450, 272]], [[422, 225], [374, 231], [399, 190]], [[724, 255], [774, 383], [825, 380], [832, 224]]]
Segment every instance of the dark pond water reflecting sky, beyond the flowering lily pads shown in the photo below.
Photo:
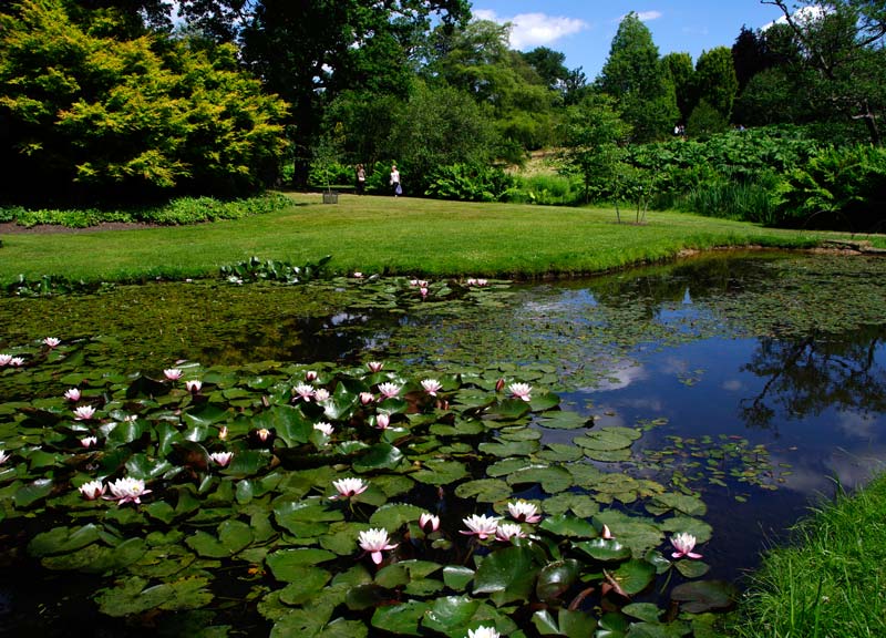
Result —
[[[378, 281], [156, 284], [4, 300], [0, 351], [54, 335], [92, 339], [90, 362], [128, 371], [176, 360], [525, 371], [595, 428], [640, 430], [629, 453], [594, 463], [700, 496], [710, 575], [740, 582], [816, 500], [883, 470], [884, 275], [882, 259], [724, 253], [460, 295], [434, 284], [425, 300]], [[0, 375], [8, 402], [66, 387]], [[574, 436], [543, 429], [542, 442]], [[631, 512], [635, 498], [611, 502]]]

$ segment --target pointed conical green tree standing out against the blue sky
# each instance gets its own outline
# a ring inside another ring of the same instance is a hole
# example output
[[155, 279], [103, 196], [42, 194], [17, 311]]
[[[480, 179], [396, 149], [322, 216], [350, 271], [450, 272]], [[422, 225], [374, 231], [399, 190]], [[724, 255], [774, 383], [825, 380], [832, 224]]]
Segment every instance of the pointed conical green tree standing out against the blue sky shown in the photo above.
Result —
[[638, 142], [663, 137], [680, 117], [673, 82], [635, 12], [621, 20], [597, 86], [616, 99]]

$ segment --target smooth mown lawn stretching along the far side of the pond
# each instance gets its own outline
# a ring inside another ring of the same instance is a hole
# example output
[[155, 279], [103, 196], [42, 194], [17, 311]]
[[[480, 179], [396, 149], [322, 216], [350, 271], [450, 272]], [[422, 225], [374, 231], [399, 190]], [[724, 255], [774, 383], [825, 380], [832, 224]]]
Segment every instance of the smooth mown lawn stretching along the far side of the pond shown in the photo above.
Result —
[[[596, 272], [714, 246], [807, 247], [823, 234], [651, 212], [292, 194], [292, 206], [194, 226], [0, 236], [0, 284], [20, 274], [86, 281], [203, 277], [258, 256], [292, 264], [332, 255], [338, 272], [540, 277]], [[630, 222], [632, 216], [625, 216]]]

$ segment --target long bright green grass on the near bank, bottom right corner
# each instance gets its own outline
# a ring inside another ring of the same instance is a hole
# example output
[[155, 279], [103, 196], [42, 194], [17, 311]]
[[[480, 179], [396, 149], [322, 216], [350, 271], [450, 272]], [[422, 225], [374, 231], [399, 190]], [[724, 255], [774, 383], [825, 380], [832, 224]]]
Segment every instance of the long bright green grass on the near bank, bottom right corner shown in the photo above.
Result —
[[772, 550], [742, 601], [738, 638], [886, 636], [886, 476], [817, 510]]

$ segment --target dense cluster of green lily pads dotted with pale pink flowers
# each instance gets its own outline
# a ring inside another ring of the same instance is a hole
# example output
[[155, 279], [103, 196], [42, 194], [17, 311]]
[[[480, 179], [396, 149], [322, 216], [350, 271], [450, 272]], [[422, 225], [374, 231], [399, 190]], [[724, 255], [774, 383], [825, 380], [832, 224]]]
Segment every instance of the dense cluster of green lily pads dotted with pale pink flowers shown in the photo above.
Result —
[[125, 373], [92, 369], [90, 346], [0, 368], [52, 380], [0, 405], [0, 525], [41, 523], [23, 567], [94, 575], [84, 597], [132, 627], [709, 636], [732, 601], [702, 579], [704, 504], [607, 467], [640, 430], [562, 411], [532, 367]]

